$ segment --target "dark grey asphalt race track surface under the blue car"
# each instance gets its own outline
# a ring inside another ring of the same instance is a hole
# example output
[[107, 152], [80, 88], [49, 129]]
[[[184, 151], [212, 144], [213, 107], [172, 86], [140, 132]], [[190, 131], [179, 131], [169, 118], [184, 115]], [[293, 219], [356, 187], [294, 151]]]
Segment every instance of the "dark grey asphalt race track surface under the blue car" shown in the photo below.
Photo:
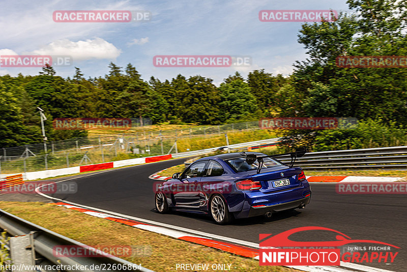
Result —
[[[281, 212], [271, 219], [263, 216], [216, 225], [210, 217], [181, 212], [159, 214], [154, 211], [155, 180], [148, 176], [185, 158], [107, 171], [78, 177], [76, 194], [52, 195], [55, 198], [91, 207], [119, 212], [170, 225], [258, 243], [258, 234], [280, 232], [305, 226], [338, 230], [353, 239], [378, 240], [400, 247], [394, 263], [369, 266], [393, 271], [407, 271], [407, 199], [405, 195], [339, 195], [335, 184], [311, 184], [311, 202], [303, 210]], [[72, 178], [72, 177], [71, 177]], [[331, 232], [309, 231], [290, 237], [298, 241], [336, 240]], [[369, 246], [369, 244], [363, 244]], [[353, 244], [361, 246], [361, 244]], [[377, 246], [372, 244], [372, 246]], [[361, 263], [366, 265], [365, 263]]]

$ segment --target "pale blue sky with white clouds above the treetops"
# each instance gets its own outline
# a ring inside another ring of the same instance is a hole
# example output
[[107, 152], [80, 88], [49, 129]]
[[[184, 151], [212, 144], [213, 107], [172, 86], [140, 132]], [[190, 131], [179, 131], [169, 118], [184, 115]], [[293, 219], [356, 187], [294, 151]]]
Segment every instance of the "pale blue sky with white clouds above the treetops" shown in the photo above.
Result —
[[[42, 3], [42, 4], [40, 4]], [[262, 22], [260, 10], [336, 10], [348, 12], [346, 0], [162, 0], [162, 1], [2, 1], [1, 55], [69, 56], [72, 64], [55, 67], [72, 77], [79, 67], [86, 78], [104, 76], [110, 62], [131, 63], [144, 80], [178, 74], [202, 75], [219, 85], [236, 71], [245, 78], [265, 69], [288, 75], [307, 58], [297, 42], [301, 22]], [[55, 22], [54, 11], [128, 10], [151, 14], [132, 22]], [[245, 56], [245, 67], [155, 67], [158, 55]], [[0, 75], [37, 75], [38, 67], [0, 67]]]

